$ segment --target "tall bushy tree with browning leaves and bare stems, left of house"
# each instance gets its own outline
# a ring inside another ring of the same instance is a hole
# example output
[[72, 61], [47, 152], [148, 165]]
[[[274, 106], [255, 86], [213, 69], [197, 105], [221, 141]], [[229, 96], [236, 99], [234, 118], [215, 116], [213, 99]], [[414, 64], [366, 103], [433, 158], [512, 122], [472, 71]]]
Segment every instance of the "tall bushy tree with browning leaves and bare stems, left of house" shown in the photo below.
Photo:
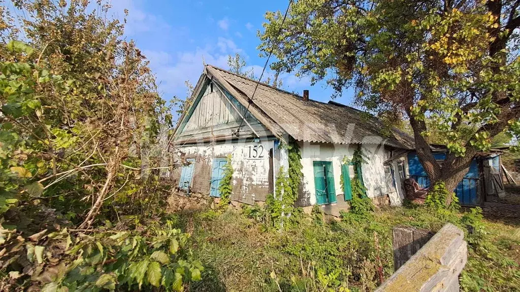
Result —
[[55, 202], [89, 228], [103, 206], [146, 190], [127, 181], [153, 168], [150, 145], [171, 114], [146, 57], [118, 20], [101, 16], [109, 5], [15, 3], [28, 17], [23, 42], [13, 25], [0, 27], [0, 208], [5, 197]]

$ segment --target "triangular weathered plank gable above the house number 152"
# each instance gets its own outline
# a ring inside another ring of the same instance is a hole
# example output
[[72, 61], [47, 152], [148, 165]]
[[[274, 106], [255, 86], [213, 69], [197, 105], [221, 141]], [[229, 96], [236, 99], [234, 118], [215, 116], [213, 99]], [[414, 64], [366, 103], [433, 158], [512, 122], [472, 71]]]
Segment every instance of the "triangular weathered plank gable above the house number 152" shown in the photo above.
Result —
[[[216, 85], [207, 84], [202, 92], [184, 125], [181, 125], [177, 142], [229, 138], [231, 131], [236, 131], [239, 127], [239, 138], [256, 137], [255, 132], [258, 136], [272, 135], [242, 104], [227, 92], [225, 96], [224, 91], [219, 90]], [[245, 118], [244, 122], [242, 117]]]

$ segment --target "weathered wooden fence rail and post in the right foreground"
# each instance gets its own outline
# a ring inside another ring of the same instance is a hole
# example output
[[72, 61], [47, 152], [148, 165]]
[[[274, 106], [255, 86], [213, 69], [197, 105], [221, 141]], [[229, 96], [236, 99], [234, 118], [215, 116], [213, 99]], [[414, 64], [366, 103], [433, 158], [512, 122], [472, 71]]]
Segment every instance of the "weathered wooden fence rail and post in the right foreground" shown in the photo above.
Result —
[[393, 244], [396, 272], [376, 292], [459, 291], [467, 247], [455, 225], [444, 225], [433, 237], [425, 230], [396, 227]]

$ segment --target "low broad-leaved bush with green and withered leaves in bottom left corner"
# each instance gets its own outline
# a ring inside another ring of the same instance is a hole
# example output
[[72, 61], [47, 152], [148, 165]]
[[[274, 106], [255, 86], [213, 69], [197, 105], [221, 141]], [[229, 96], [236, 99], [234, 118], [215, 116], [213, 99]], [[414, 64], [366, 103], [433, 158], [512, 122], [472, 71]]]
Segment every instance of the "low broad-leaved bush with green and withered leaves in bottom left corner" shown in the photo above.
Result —
[[17, 273], [15, 282], [20, 287], [31, 284], [31, 279], [43, 291], [152, 286], [180, 291], [185, 283], [199, 281], [204, 270], [200, 261], [191, 258], [186, 246], [189, 234], [173, 228], [170, 220], [149, 221], [146, 229], [134, 231], [72, 234], [65, 228], [29, 238], [18, 235], [16, 230], [0, 229], [0, 240], [8, 247], [0, 261], [5, 263], [2, 273]]

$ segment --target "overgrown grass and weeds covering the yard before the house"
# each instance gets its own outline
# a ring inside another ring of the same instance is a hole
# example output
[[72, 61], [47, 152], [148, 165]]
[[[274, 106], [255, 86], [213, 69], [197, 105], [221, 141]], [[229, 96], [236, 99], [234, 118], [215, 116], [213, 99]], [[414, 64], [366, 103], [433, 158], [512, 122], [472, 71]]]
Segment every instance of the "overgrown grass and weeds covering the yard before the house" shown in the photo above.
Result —
[[[520, 283], [520, 229], [468, 212], [399, 207], [370, 222], [324, 222], [315, 212], [283, 233], [248, 218], [250, 210], [177, 214], [192, 234], [202, 281], [190, 291], [371, 291], [393, 273], [392, 229], [398, 224], [438, 231], [446, 222], [472, 225], [469, 260], [461, 275], [468, 291], [514, 291]], [[251, 216], [250, 216], [251, 217]]]

